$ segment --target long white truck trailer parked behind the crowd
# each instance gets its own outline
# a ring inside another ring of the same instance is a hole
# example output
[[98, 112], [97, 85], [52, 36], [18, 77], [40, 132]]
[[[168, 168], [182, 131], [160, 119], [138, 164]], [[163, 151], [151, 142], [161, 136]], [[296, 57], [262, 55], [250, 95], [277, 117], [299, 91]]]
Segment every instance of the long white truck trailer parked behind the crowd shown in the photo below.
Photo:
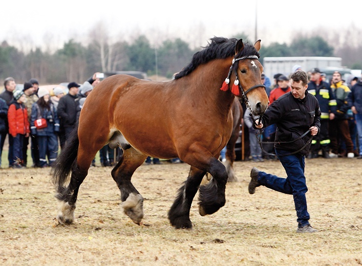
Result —
[[346, 69], [342, 66], [342, 58], [340, 57], [298, 56], [264, 57], [263, 59], [264, 73], [269, 78], [272, 78], [278, 73], [288, 77], [295, 65], [300, 65], [304, 71], [319, 68], [322, 72], [327, 74], [327, 79], [331, 78], [331, 75], [335, 70], [341, 72], [342, 75], [346, 77], [351, 74], [350, 69]]

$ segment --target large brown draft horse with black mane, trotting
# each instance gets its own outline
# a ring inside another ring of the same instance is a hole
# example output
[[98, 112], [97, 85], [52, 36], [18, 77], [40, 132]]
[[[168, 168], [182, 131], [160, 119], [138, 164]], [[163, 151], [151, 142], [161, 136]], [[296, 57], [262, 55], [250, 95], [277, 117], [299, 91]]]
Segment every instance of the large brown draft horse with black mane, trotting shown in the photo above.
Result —
[[[135, 223], [143, 218], [143, 197], [131, 178], [147, 156], [180, 158], [191, 166], [168, 212], [174, 227], [192, 227], [189, 211], [198, 190], [201, 215], [224, 206], [228, 175], [218, 158], [231, 136], [235, 95], [242, 95], [255, 116], [268, 106], [258, 60], [260, 47], [260, 40], [252, 46], [215, 37], [172, 81], [115, 75], [95, 86], [81, 110], [78, 130], [67, 140], [52, 169], [60, 202], [59, 223], [73, 222], [79, 186], [95, 154], [107, 143], [122, 148], [112, 177], [124, 213]], [[200, 186], [206, 172], [214, 178]]]

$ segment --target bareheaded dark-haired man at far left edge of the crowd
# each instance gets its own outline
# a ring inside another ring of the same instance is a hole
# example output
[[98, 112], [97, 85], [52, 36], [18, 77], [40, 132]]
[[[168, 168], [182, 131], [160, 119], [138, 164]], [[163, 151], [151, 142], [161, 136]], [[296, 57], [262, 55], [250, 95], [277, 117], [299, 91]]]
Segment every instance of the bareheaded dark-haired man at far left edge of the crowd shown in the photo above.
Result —
[[[16, 88], [16, 83], [14, 78], [12, 77], [6, 78], [4, 80], [4, 87], [5, 90], [0, 94], [0, 98], [2, 98], [6, 102], [9, 108], [10, 104], [14, 101], [13, 92], [15, 91]], [[1, 133], [1, 138], [0, 138], [1, 139], [0, 153], [2, 153], [3, 151], [6, 135], [8, 135], [9, 138], [8, 161], [9, 165], [11, 165], [13, 163], [13, 137], [11, 136], [11, 134], [9, 134], [9, 123], [7, 117], [5, 118], [5, 126], [6, 130], [5, 132]], [[0, 159], [0, 165], [1, 165], [1, 159]]]

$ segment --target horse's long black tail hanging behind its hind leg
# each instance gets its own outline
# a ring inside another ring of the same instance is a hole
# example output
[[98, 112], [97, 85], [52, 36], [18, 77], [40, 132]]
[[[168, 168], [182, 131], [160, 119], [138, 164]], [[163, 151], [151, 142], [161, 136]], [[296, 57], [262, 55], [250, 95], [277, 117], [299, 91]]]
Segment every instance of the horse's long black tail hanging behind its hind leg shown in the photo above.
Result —
[[76, 127], [72, 131], [71, 136], [67, 140], [67, 144], [61, 149], [59, 156], [52, 166], [52, 180], [58, 193], [65, 190], [65, 183], [68, 180], [69, 173], [73, 167], [75, 167], [78, 145], [78, 128]]

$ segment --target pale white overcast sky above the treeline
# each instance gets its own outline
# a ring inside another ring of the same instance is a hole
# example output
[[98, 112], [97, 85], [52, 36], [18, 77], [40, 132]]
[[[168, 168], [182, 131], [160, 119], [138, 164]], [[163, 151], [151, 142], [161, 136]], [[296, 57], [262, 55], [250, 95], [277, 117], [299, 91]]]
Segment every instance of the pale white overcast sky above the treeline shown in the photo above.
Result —
[[[356, 4], [357, 3], [357, 4]], [[180, 37], [205, 46], [213, 36], [231, 37], [244, 32], [262, 43], [290, 42], [293, 32], [315, 29], [362, 28], [359, 1], [337, 3], [317, 0], [145, 1], [145, 0], [4, 0], [0, 4], [0, 41], [10, 45], [62, 47], [70, 38], [86, 41], [102, 22], [113, 38], [129, 41], [145, 34], [156, 43]], [[257, 19], [255, 19], [257, 14]]]

